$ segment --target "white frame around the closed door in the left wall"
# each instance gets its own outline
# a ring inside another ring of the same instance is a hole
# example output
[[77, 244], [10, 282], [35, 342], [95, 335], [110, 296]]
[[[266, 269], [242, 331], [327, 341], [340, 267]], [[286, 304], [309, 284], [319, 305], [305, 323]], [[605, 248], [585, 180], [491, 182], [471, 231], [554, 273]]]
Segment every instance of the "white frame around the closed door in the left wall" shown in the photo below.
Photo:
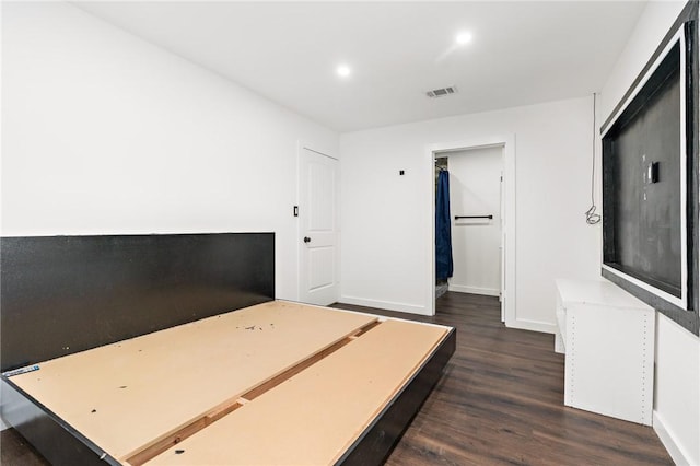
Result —
[[[302, 152], [304, 150], [317, 153], [318, 155], [323, 155], [326, 156], [328, 159], [331, 159], [334, 161], [337, 162], [337, 172], [336, 172], [336, 206], [335, 206], [335, 213], [336, 213], [336, 219], [335, 219], [335, 225], [336, 225], [336, 257], [335, 257], [335, 265], [336, 265], [336, 278], [337, 278], [337, 292], [336, 292], [336, 301], [338, 301], [338, 299], [340, 298], [340, 247], [341, 247], [341, 237], [340, 237], [340, 159], [334, 153], [334, 151], [327, 150], [326, 148], [322, 147], [323, 144], [310, 144], [308, 142], [304, 141], [304, 140], [298, 140], [296, 141], [296, 198], [294, 200], [294, 206], [298, 207], [300, 210], [302, 208], [301, 206], [301, 199], [302, 199], [302, 184], [301, 184], [301, 170], [302, 170]], [[296, 228], [295, 228], [295, 235], [294, 235], [294, 241], [296, 244], [296, 302], [301, 302], [302, 299], [302, 254], [303, 254], [303, 243], [302, 243], [302, 237], [303, 237], [303, 225], [301, 220], [301, 215], [296, 215], [294, 218], [295, 223], [296, 223]]]

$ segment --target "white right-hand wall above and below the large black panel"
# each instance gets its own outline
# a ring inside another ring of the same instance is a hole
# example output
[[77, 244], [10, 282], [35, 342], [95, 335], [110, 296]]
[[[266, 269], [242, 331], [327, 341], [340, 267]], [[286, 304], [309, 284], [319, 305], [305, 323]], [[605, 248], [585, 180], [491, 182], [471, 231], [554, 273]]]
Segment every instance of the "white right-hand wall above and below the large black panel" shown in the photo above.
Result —
[[[607, 118], [622, 98], [684, 2], [649, 2], [603, 88], [600, 115]], [[657, 315], [654, 429], [677, 464], [700, 464], [700, 339]]]

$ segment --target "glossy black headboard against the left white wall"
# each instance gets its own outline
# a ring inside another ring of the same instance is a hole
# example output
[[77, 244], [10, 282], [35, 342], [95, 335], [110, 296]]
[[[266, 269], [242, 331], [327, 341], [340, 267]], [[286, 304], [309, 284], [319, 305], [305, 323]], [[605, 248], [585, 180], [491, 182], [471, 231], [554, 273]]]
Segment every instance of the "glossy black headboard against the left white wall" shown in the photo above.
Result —
[[0, 238], [2, 371], [275, 299], [275, 233]]

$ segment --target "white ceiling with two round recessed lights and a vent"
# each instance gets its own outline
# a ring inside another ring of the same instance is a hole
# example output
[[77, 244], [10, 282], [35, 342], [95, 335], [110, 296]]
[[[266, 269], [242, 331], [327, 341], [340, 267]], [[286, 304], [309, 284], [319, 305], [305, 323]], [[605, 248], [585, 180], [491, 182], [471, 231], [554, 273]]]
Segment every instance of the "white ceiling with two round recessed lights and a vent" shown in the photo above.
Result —
[[645, 2], [74, 4], [345, 132], [599, 91]]

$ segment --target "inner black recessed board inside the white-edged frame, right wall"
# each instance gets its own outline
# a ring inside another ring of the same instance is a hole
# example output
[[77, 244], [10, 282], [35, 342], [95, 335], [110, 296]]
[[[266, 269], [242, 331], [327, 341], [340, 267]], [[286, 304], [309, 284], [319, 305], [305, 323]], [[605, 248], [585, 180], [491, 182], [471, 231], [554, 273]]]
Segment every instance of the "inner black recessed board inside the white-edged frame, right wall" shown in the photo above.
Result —
[[[680, 108], [676, 44], [604, 140], [605, 264], [678, 298]], [[656, 182], [648, 174], [652, 163]]]

